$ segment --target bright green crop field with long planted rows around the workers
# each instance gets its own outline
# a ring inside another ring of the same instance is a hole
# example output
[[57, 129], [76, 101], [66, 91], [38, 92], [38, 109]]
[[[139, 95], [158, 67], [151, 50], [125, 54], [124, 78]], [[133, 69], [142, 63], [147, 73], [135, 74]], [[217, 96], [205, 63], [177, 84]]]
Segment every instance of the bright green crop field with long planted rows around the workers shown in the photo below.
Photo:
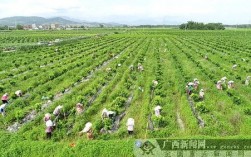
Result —
[[[251, 30], [10, 31], [0, 32], [0, 48], [0, 94], [10, 98], [6, 115], [0, 116], [0, 142], [9, 141], [4, 156], [39, 155], [52, 148], [58, 155], [86, 149], [91, 154], [99, 145], [106, 145], [99, 151], [117, 148], [121, 156], [132, 156], [138, 138], [251, 137], [251, 82], [245, 84], [251, 76]], [[233, 80], [234, 88], [218, 90], [222, 77]], [[188, 96], [185, 87], [194, 78], [200, 84]], [[204, 100], [197, 98], [200, 89]], [[23, 96], [15, 97], [16, 90]], [[76, 115], [79, 102], [84, 112]], [[43, 117], [58, 105], [65, 114], [48, 141]], [[154, 114], [157, 105], [161, 117]], [[104, 108], [122, 118], [116, 124], [102, 121]], [[135, 119], [132, 136], [128, 118]], [[93, 124], [90, 142], [78, 134], [87, 122]], [[100, 133], [102, 128], [108, 133]], [[77, 143], [73, 150], [72, 141]]]

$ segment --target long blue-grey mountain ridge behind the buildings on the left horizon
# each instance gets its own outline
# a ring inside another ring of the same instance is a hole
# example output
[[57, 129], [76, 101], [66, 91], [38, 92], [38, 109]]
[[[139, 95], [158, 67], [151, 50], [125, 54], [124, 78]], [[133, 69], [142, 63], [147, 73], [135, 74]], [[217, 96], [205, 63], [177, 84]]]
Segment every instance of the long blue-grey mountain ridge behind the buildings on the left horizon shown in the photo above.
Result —
[[85, 25], [89, 27], [98, 27], [101, 24], [104, 26], [122, 26], [118, 23], [99, 23], [99, 22], [87, 22], [83, 20], [73, 19], [69, 17], [53, 17], [53, 18], [44, 18], [38, 16], [13, 16], [0, 19], [0, 26], [15, 26], [17, 24], [20, 25], [45, 25], [45, 24], [61, 24], [61, 25]]

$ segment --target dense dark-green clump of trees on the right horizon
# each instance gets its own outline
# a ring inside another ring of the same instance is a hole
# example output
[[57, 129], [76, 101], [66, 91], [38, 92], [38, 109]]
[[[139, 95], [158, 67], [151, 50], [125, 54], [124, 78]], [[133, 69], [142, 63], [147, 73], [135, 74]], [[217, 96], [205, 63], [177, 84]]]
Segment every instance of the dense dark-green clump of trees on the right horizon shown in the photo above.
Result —
[[222, 23], [208, 23], [204, 24], [201, 22], [188, 21], [179, 26], [180, 29], [185, 30], [224, 30], [225, 27]]

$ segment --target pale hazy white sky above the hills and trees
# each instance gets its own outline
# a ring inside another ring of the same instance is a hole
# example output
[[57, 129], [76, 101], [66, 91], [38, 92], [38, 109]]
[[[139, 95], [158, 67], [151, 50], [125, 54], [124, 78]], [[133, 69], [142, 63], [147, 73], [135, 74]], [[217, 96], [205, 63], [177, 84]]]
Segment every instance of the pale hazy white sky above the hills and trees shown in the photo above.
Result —
[[67, 16], [124, 24], [251, 23], [250, 0], [0, 0], [0, 18]]

